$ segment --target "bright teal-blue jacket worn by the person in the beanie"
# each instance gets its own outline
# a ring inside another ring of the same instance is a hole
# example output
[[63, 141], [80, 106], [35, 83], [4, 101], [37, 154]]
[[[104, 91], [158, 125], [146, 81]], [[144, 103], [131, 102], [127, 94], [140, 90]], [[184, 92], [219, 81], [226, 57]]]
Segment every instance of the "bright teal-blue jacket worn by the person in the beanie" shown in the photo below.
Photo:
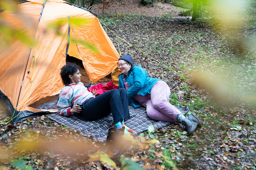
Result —
[[155, 85], [155, 83], [160, 80], [158, 78], [150, 78], [146, 70], [138, 65], [131, 67], [130, 70], [128, 71], [127, 76], [125, 74], [119, 75], [119, 88], [125, 88], [123, 82], [124, 78], [126, 82], [128, 82], [128, 85], [130, 86], [130, 88], [127, 91], [129, 104], [134, 106], [135, 108], [138, 108], [141, 105], [132, 97], [135, 94], [140, 94], [143, 96], [150, 94], [153, 85]]

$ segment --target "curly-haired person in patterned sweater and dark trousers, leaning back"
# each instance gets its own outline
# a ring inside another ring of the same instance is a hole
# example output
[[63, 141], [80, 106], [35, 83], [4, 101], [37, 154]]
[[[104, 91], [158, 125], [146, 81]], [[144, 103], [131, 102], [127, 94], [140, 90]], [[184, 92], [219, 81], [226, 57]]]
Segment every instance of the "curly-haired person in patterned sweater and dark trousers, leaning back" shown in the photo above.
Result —
[[62, 116], [79, 114], [93, 121], [108, 116], [111, 112], [118, 129], [124, 127], [125, 134], [133, 132], [124, 125], [124, 119], [130, 117], [128, 110], [128, 95], [124, 88], [113, 89], [95, 97], [81, 82], [79, 67], [68, 63], [60, 72], [65, 87], [61, 90], [57, 103]]

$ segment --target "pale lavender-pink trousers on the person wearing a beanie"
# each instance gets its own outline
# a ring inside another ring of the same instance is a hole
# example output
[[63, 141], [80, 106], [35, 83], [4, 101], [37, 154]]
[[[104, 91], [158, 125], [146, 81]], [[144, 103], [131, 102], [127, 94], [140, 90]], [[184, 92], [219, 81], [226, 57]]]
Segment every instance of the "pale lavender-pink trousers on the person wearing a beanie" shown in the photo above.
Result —
[[146, 107], [146, 113], [150, 119], [176, 121], [177, 115], [181, 112], [169, 103], [170, 95], [170, 88], [164, 81], [158, 81], [153, 85], [150, 93], [151, 99], [141, 103]]

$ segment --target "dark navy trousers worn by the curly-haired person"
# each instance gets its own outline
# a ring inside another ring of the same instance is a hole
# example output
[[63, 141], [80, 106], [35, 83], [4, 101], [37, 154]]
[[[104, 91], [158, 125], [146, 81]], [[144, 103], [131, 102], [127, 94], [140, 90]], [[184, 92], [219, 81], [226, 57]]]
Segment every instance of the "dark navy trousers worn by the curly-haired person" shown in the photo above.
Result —
[[113, 89], [82, 103], [81, 116], [87, 120], [98, 120], [111, 112], [114, 123], [130, 117], [126, 89]]

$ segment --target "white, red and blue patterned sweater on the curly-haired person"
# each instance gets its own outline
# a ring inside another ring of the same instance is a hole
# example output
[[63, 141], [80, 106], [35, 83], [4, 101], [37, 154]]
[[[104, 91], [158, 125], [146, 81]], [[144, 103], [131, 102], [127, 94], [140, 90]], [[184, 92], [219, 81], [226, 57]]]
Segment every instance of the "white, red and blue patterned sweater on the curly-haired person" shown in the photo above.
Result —
[[95, 96], [92, 95], [81, 82], [67, 85], [61, 90], [57, 103], [57, 107], [59, 107], [58, 112], [62, 116], [70, 116], [72, 115], [70, 109], [72, 109], [73, 106], [82, 104], [91, 97]]

